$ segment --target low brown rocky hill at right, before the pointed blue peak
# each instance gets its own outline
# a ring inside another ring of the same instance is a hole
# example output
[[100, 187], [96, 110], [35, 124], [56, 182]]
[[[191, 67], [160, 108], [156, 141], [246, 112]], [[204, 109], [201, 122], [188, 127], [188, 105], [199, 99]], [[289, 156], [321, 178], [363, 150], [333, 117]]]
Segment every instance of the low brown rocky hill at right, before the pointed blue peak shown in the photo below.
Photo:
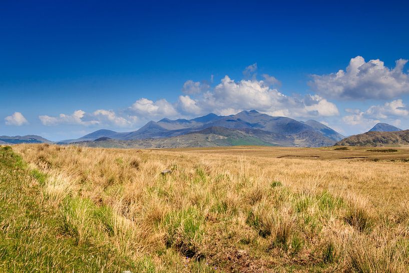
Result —
[[395, 132], [366, 132], [338, 141], [340, 146], [401, 146], [409, 145], [409, 130]]

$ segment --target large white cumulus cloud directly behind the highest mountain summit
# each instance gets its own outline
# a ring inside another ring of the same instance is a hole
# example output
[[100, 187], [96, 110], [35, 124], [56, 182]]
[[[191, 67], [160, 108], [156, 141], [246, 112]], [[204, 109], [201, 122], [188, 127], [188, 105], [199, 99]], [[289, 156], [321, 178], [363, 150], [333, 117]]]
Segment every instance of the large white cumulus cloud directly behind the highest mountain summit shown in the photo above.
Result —
[[234, 81], [225, 76], [213, 90], [203, 94], [195, 104], [205, 112], [226, 115], [256, 109], [274, 116], [313, 117], [338, 115], [335, 104], [318, 95], [304, 98], [286, 96], [264, 81]]

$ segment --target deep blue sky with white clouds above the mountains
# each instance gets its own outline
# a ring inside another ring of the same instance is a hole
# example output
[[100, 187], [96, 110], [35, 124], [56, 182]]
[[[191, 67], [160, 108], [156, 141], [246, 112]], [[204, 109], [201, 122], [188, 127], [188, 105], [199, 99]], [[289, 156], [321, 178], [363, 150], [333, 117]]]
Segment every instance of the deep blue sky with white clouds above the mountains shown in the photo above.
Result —
[[407, 18], [402, 1], [2, 1], [0, 135], [251, 109], [408, 129]]

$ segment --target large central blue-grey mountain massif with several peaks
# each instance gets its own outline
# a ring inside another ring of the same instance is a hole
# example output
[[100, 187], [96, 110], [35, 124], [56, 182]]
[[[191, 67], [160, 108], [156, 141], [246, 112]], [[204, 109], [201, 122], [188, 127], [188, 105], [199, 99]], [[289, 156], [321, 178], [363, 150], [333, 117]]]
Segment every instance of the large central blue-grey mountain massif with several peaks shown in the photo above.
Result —
[[[192, 142], [192, 134], [194, 134], [196, 139], [209, 136], [209, 139], [212, 140], [202, 140], [204, 143]], [[219, 137], [217, 141], [213, 140], [214, 136]], [[343, 138], [342, 135], [333, 129], [317, 121], [300, 122], [287, 117], [272, 117], [251, 110], [229, 116], [218, 116], [211, 113], [190, 120], [164, 118], [158, 122], [150, 121], [139, 130], [133, 132], [118, 133], [111, 130], [98, 130], [79, 139], [63, 142], [92, 142], [103, 137], [112, 139], [106, 140], [111, 144], [120, 143], [118, 141], [134, 141], [134, 143], [127, 142], [126, 145], [149, 147], [156, 145], [152, 143], [167, 143], [172, 147], [175, 145], [187, 145], [186, 143], [193, 146], [230, 146], [234, 145], [234, 143], [249, 143], [246, 145], [321, 147], [333, 145], [336, 141]], [[154, 141], [154, 139], [161, 140]], [[181, 143], [182, 139], [185, 143]], [[220, 139], [224, 139], [224, 141], [220, 141]], [[145, 141], [142, 143], [139, 140]], [[174, 143], [173, 141], [176, 142]], [[118, 145], [125, 145], [124, 143], [121, 142]], [[98, 141], [95, 145], [104, 145], [104, 141]]]

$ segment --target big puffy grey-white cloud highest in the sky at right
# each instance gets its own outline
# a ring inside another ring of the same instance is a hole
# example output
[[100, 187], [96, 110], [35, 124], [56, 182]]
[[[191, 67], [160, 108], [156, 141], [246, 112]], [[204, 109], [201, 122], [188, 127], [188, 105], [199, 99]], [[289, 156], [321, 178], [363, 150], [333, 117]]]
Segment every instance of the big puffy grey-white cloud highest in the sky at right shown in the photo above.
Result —
[[308, 84], [318, 94], [342, 99], [392, 99], [409, 94], [409, 74], [403, 72], [407, 60], [399, 59], [389, 69], [379, 59], [365, 62], [352, 58], [346, 71], [312, 75]]

